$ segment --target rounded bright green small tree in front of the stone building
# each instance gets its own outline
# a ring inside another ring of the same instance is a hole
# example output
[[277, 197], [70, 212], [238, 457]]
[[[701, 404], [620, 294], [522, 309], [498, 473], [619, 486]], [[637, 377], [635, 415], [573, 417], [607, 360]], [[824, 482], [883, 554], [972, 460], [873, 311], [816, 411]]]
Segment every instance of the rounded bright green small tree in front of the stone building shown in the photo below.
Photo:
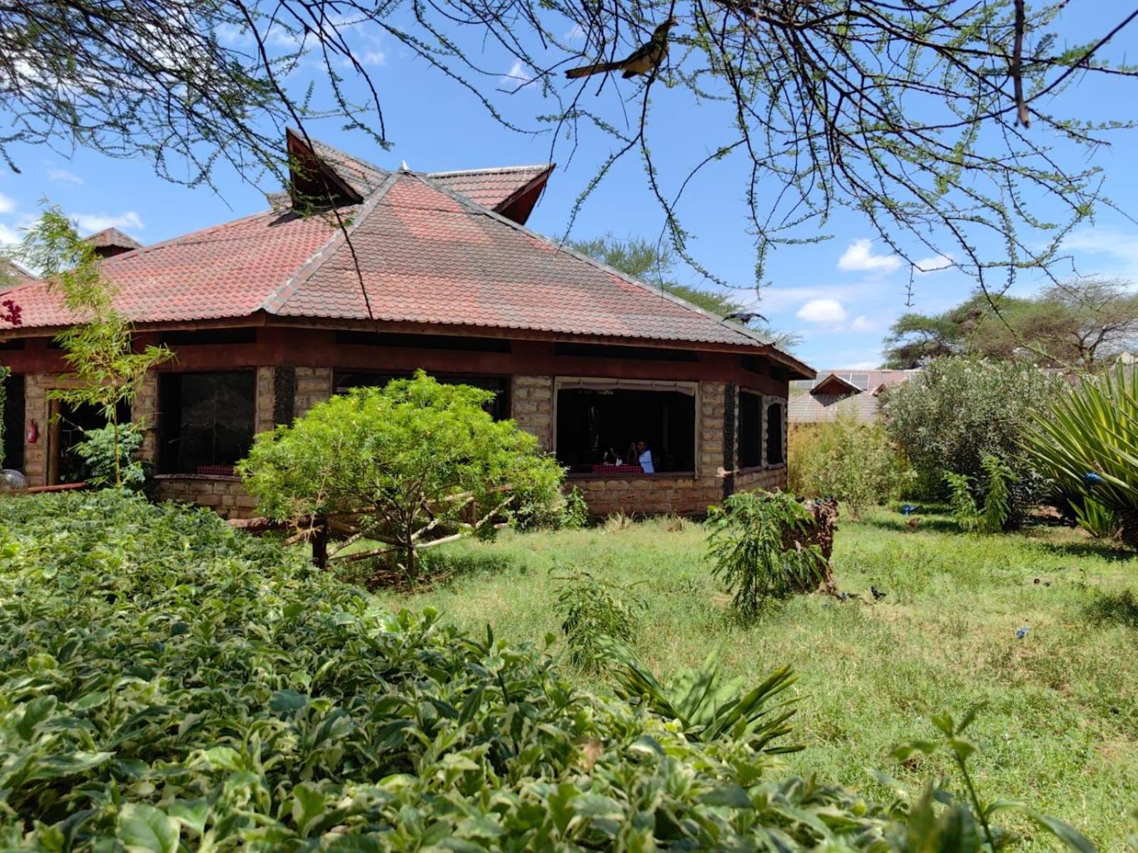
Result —
[[533, 436], [486, 413], [492, 396], [422, 371], [356, 388], [257, 436], [239, 471], [269, 517], [332, 517], [332, 535], [382, 544], [352, 558], [396, 553], [414, 577], [418, 550], [488, 529], [516, 500], [552, 499], [561, 482]]

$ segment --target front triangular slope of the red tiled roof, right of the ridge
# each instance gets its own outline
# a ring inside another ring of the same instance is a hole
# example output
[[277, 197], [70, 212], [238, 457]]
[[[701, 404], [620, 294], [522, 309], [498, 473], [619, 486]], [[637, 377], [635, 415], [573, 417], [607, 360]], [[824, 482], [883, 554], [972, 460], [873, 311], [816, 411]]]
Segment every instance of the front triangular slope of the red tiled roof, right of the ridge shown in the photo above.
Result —
[[740, 326], [633, 282], [434, 179], [399, 173], [337, 247], [265, 306], [282, 316], [377, 320], [762, 346]]

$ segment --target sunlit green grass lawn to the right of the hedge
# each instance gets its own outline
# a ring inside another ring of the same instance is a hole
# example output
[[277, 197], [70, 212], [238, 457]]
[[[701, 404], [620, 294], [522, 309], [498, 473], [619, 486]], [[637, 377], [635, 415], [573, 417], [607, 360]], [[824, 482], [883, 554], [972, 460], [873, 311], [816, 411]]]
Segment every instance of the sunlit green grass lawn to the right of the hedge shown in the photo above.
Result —
[[[753, 627], [726, 618], [698, 524], [505, 533], [447, 547], [479, 568], [380, 602], [435, 606], [463, 628], [488, 622], [497, 636], [541, 644], [559, 632], [559, 566], [638, 582], [649, 610], [635, 645], [658, 673], [695, 665], [717, 644], [725, 672], [750, 684], [793, 664], [793, 722], [807, 750], [786, 756], [792, 767], [887, 798], [868, 769], [910, 784], [949, 770], [939, 757], [897, 765], [889, 752], [929, 735], [931, 713], [986, 702], [970, 730], [983, 750], [973, 764], [981, 795], [1029, 801], [1100, 850], [1125, 846], [1138, 806], [1138, 599], [1128, 593], [1138, 590], [1138, 560], [1079, 531], [964, 536], [925, 515], [913, 532], [888, 511], [841, 520], [835, 577], [864, 601], [802, 596]], [[871, 585], [887, 597], [874, 602]], [[1022, 626], [1029, 632], [1017, 639]], [[605, 689], [600, 677], [578, 678]]]

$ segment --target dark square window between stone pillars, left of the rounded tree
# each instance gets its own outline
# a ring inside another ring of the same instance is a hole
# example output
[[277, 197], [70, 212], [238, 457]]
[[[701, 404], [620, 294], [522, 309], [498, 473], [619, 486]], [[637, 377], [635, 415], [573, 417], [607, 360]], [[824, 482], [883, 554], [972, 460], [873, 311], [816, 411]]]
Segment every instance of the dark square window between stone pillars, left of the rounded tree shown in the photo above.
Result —
[[163, 374], [159, 469], [232, 474], [253, 445], [255, 386], [253, 371]]

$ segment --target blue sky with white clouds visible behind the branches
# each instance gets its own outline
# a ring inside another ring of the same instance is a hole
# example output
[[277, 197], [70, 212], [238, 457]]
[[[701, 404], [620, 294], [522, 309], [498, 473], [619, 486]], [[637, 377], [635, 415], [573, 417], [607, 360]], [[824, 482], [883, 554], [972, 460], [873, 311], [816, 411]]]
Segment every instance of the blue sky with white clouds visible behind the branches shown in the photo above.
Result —
[[[1083, 14], [1091, 5], [1102, 13], [1092, 20]], [[1064, 13], [1059, 30], [1078, 42], [1095, 33], [1095, 27], [1103, 27], [1104, 20], [1120, 18], [1129, 7], [1122, 0], [1081, 0]], [[1138, 30], [1124, 31], [1111, 55], [1122, 56], [1132, 47], [1138, 47]], [[380, 166], [396, 167], [406, 160], [411, 168], [420, 171], [542, 163], [550, 158], [549, 134], [520, 134], [504, 129], [469, 94], [393, 40], [361, 33], [358, 51], [379, 89], [393, 149], [382, 151], [362, 134], [345, 134], [335, 122], [311, 122], [307, 127], [314, 136]], [[494, 67], [495, 61], [501, 63], [500, 69]], [[511, 74], [514, 78], [526, 77], [525, 69], [510, 67], [501, 57], [488, 55], [485, 64], [500, 74], [498, 78], [487, 77], [486, 85], [492, 89], [512, 89]], [[304, 72], [292, 83], [304, 85]], [[596, 96], [589, 90], [586, 97]], [[552, 105], [543, 103], [537, 86], [525, 86], [500, 100], [511, 119], [545, 130], [534, 116], [552, 111]], [[1052, 106], [1059, 114], [1077, 109], [1080, 117], [1129, 119], [1132, 109], [1127, 105], [1133, 102], [1135, 84], [1115, 80], [1090, 81], [1070, 89]], [[723, 116], [706, 103], [693, 103], [678, 89], [653, 90], [651, 107], [650, 143], [670, 194], [686, 168], [723, 141], [717, 124]], [[1062, 143], [1057, 154], [1074, 168], [1102, 167], [1106, 194], [1123, 212], [1138, 215], [1138, 174], [1133, 165], [1138, 163], [1138, 134], [1123, 131], [1111, 139], [1113, 146], [1092, 157]], [[553, 149], [558, 169], [529, 221], [542, 233], [564, 232], [578, 193], [613, 149], [611, 138], [600, 134], [584, 133], [576, 141], [575, 150], [572, 140], [567, 139], [558, 140]], [[116, 160], [86, 150], [23, 147], [10, 152], [22, 173], [0, 171], [0, 242], [18, 239], [19, 229], [34, 218], [43, 199], [60, 205], [84, 233], [114, 225], [149, 243], [263, 209], [262, 192], [275, 189], [269, 182], [250, 185], [224, 171], [215, 175], [218, 192], [187, 189], [156, 177], [146, 162]], [[744, 175], [740, 162], [715, 164], [686, 191], [679, 214], [694, 238], [692, 252], [718, 276], [737, 284], [739, 298], [754, 303], [751, 287], [756, 254], [744, 215]], [[1026, 200], [1030, 205], [1030, 193]], [[588, 238], [611, 232], [655, 239], [662, 224], [643, 166], [629, 156], [585, 201], [572, 235]], [[800, 333], [803, 341], [795, 354], [817, 367], [875, 365], [890, 323], [909, 309], [908, 266], [880, 240], [875, 241], [868, 223], [852, 213], [838, 212], [826, 223], [825, 235], [828, 239], [823, 242], [782, 247], [772, 254], [765, 276], [770, 285], [762, 290], [759, 309], [775, 328]], [[1083, 274], [1119, 275], [1138, 282], [1138, 226], [1123, 215], [1103, 212], [1094, 225], [1073, 232], [1065, 248]], [[679, 270], [677, 278], [690, 284], [715, 287], [686, 268]], [[1023, 276], [1016, 290], [1031, 292], [1040, 284], [1038, 276]], [[913, 308], [943, 309], [964, 299], [972, 287], [972, 281], [955, 270], [918, 274]]]

